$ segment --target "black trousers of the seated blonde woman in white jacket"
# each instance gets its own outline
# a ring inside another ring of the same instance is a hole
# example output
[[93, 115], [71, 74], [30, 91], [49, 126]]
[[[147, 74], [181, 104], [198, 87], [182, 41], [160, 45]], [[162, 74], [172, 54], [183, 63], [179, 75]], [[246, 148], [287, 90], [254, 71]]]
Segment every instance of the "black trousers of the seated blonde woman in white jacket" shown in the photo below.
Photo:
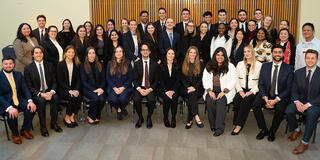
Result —
[[248, 97], [242, 98], [239, 93], [233, 99], [234, 105], [234, 115], [233, 115], [233, 124], [236, 126], [243, 127], [247, 121], [250, 108], [253, 105], [253, 102], [256, 98], [256, 95], [251, 94]]

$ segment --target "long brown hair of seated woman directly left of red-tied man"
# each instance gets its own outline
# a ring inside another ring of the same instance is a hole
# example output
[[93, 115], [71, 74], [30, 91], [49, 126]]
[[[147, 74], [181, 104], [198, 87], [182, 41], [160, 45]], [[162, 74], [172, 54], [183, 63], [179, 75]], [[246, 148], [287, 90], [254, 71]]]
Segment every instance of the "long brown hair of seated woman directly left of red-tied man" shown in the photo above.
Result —
[[[120, 48], [122, 50], [122, 58], [120, 60], [120, 63], [117, 62], [117, 58], [115, 56], [116, 50], [118, 48]], [[117, 46], [113, 50], [112, 59], [110, 61], [110, 75], [111, 76], [115, 75], [117, 71], [120, 72], [122, 75], [124, 75], [124, 74], [126, 74], [128, 72], [126, 56], [125, 56], [124, 50], [123, 50], [123, 48], [121, 46]]]

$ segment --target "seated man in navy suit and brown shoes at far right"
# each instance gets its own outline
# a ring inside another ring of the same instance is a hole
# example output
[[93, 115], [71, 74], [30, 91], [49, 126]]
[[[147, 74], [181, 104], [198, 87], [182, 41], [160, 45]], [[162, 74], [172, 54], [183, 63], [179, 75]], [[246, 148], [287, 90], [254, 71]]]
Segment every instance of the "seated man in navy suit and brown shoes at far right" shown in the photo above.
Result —
[[317, 66], [318, 52], [309, 49], [305, 54], [306, 67], [294, 73], [291, 90], [292, 102], [286, 109], [289, 129], [292, 134], [289, 141], [295, 141], [302, 135], [298, 127], [296, 114], [306, 117], [305, 131], [300, 144], [293, 150], [294, 154], [301, 154], [308, 149], [308, 142], [320, 117], [320, 68]]

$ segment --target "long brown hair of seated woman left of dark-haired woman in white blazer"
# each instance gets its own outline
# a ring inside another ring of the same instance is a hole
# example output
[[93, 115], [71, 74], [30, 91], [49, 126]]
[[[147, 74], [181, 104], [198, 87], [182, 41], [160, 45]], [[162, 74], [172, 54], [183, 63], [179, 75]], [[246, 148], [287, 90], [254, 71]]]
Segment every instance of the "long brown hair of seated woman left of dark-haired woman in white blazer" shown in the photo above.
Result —
[[190, 61], [189, 61], [189, 53], [191, 49], [194, 49], [196, 51], [196, 59], [194, 61], [194, 69], [193, 69], [193, 75], [198, 76], [201, 72], [201, 66], [200, 66], [200, 58], [199, 58], [199, 50], [196, 46], [190, 46], [187, 50], [186, 56], [184, 58], [183, 64], [182, 64], [182, 73], [187, 76], [189, 73], [189, 66], [190, 66]]

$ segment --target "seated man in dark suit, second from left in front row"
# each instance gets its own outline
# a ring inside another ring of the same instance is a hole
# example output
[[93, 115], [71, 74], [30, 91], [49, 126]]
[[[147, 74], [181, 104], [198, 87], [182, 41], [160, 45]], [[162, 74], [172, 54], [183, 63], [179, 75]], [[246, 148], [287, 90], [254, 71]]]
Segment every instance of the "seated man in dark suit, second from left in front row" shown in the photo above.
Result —
[[56, 95], [56, 72], [52, 64], [43, 60], [43, 48], [35, 47], [32, 51], [33, 62], [24, 68], [24, 75], [32, 95], [32, 99], [38, 106], [40, 132], [44, 137], [49, 136], [46, 127], [46, 103], [51, 104], [51, 129], [62, 132], [57, 125], [59, 99]]

